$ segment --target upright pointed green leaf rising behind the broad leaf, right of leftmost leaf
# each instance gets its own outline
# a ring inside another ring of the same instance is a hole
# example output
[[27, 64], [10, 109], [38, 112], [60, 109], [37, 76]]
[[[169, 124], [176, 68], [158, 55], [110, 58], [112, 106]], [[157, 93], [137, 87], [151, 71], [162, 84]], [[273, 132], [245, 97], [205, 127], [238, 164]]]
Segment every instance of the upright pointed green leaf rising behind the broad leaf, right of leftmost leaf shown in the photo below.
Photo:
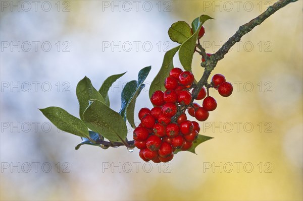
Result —
[[[102, 95], [92, 86], [91, 81], [86, 76], [78, 83], [76, 88], [76, 94], [79, 101], [79, 113], [81, 120], [83, 120], [83, 112], [88, 107], [88, 101], [90, 99], [96, 99], [105, 103], [105, 100]], [[92, 125], [87, 122], [84, 123], [89, 129], [97, 132], [96, 130], [94, 130], [94, 127]]]

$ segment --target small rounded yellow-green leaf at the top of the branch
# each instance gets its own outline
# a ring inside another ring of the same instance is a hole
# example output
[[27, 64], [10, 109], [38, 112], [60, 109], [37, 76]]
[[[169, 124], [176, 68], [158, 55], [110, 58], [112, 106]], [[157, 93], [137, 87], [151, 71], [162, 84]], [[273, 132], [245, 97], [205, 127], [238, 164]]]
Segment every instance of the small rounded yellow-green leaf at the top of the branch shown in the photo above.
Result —
[[169, 28], [168, 35], [174, 42], [182, 44], [191, 36], [191, 28], [184, 21], [178, 21]]

